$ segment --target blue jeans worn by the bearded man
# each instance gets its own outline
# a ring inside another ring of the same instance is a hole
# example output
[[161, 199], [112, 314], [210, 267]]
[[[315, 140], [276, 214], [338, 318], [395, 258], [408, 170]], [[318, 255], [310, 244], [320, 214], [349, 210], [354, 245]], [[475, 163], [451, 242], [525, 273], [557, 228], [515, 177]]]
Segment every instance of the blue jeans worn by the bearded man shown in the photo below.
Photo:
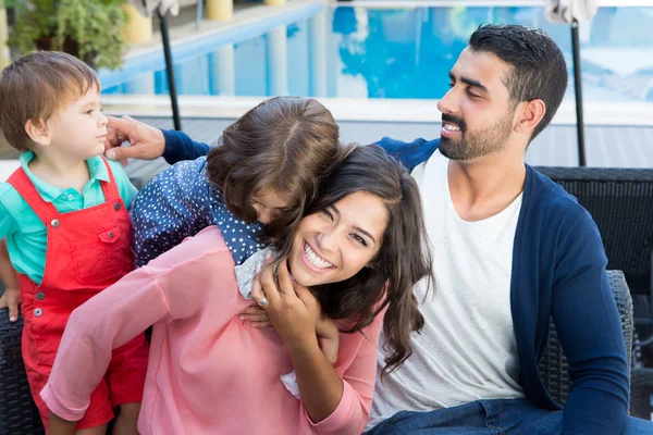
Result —
[[[528, 400], [478, 400], [430, 412], [399, 411], [366, 435], [552, 435], [563, 432], [563, 411]], [[629, 417], [623, 435], [653, 434], [653, 422]], [[596, 434], [600, 435], [600, 434]]]

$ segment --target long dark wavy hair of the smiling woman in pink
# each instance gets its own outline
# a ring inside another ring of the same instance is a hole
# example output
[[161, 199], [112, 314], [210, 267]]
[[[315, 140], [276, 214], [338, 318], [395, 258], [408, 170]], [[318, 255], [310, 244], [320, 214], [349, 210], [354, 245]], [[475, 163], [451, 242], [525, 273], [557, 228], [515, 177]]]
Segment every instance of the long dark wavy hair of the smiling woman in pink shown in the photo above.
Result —
[[[424, 277], [432, 281], [431, 252], [417, 184], [401, 163], [375, 145], [343, 147], [338, 162], [305, 215], [325, 210], [357, 191], [381, 198], [387, 208], [381, 248], [370, 265], [352, 278], [311, 290], [324, 315], [354, 320], [349, 333], [368, 326], [387, 307], [383, 332], [392, 353], [385, 359], [384, 374], [412, 353], [410, 333], [423, 326], [412, 286]], [[293, 239], [292, 235], [278, 239], [280, 258], [291, 252]]]

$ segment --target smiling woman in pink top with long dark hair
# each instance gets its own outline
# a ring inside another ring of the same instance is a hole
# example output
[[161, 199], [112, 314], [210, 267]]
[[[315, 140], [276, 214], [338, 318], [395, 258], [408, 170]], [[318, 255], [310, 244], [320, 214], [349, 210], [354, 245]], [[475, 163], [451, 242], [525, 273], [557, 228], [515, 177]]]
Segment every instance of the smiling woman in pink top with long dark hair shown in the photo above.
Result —
[[[75, 311], [41, 393], [50, 410], [78, 420], [111, 349], [153, 324], [141, 434], [360, 433], [381, 324], [394, 368], [423, 323], [412, 285], [430, 273], [430, 256], [417, 186], [381, 148], [343, 151], [323, 186], [278, 240], [279, 277], [262, 274], [266, 302], [257, 300], [274, 328], [238, 319], [251, 301], [211, 226]], [[319, 347], [324, 315], [338, 320], [333, 362]], [[300, 398], [280, 380], [293, 369]]]

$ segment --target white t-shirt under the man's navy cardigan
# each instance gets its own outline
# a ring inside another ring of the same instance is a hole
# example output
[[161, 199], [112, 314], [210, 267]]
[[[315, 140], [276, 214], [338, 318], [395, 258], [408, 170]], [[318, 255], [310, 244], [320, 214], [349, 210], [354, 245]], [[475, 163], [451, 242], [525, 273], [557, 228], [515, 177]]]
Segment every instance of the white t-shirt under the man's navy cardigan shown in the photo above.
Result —
[[[451, 198], [448, 159], [440, 151], [416, 167], [433, 250], [435, 295], [416, 295], [424, 316], [412, 356], [377, 380], [368, 428], [402, 410], [432, 411], [479, 399], [523, 397], [510, 314], [513, 244], [521, 195], [501, 213], [463, 221]], [[381, 341], [383, 343], [383, 336]], [[384, 366], [379, 352], [379, 374]]]

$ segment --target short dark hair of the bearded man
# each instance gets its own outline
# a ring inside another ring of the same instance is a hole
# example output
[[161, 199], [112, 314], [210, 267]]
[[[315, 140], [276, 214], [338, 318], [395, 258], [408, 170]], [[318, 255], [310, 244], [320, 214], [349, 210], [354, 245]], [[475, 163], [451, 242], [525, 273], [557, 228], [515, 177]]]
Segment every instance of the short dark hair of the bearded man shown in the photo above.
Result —
[[546, 113], [531, 140], [551, 122], [567, 89], [567, 64], [559, 47], [540, 28], [519, 25], [481, 25], [469, 38], [476, 52], [496, 55], [512, 66], [503, 82], [514, 105], [541, 99]]

